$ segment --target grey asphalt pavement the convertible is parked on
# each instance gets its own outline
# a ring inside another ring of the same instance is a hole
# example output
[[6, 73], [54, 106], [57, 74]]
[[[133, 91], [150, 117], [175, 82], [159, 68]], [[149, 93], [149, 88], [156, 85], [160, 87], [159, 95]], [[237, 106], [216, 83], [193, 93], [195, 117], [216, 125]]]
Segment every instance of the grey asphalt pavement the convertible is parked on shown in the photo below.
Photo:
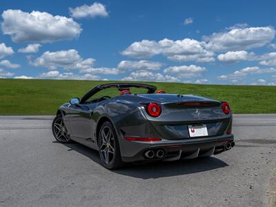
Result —
[[276, 206], [276, 115], [235, 115], [221, 155], [115, 171], [51, 119], [0, 117], [0, 206]]

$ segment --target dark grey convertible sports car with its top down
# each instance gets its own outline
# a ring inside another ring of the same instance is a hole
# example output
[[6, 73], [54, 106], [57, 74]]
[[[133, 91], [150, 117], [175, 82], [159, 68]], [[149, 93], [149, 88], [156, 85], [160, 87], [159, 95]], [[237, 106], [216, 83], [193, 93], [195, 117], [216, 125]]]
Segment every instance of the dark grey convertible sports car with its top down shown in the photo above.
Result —
[[142, 83], [103, 84], [71, 99], [57, 110], [52, 132], [63, 144], [77, 141], [98, 150], [108, 169], [208, 157], [235, 146], [226, 101], [167, 94]]

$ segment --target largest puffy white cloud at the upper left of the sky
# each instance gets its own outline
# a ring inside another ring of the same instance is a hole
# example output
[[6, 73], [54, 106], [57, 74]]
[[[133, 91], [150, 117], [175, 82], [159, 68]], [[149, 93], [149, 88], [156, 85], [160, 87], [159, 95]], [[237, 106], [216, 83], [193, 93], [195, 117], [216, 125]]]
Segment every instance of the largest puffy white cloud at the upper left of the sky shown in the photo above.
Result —
[[72, 18], [52, 16], [47, 12], [5, 10], [2, 14], [3, 34], [14, 42], [52, 42], [79, 37], [81, 26]]

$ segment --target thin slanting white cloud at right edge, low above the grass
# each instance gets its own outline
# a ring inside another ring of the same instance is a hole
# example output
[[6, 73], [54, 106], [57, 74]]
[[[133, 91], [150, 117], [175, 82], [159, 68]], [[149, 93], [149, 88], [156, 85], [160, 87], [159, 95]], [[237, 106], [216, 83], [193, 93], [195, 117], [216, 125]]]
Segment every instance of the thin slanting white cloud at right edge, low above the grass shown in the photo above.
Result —
[[242, 70], [236, 70], [233, 73], [230, 73], [228, 75], [221, 75], [218, 77], [218, 79], [221, 80], [228, 80], [228, 79], [243, 79], [247, 77], [249, 74], [264, 74], [264, 73], [271, 73], [276, 72], [275, 68], [259, 68], [257, 66], [255, 67], [247, 67], [243, 68]]

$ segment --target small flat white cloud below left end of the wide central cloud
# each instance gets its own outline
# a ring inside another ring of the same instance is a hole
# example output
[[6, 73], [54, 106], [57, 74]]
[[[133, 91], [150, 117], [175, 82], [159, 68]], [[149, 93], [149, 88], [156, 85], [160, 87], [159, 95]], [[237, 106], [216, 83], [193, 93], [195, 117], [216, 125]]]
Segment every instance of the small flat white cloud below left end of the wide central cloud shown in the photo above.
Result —
[[159, 70], [162, 63], [153, 61], [121, 61], [117, 68], [120, 70]]

